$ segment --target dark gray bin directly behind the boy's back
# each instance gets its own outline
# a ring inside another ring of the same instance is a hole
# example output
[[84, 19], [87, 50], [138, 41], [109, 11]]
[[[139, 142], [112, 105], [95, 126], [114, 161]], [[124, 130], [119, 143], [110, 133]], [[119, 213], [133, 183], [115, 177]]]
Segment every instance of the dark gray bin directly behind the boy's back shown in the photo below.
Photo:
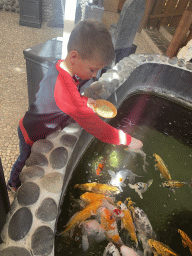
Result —
[[35, 101], [39, 83], [48, 68], [61, 59], [63, 38], [57, 37], [23, 51], [26, 59], [29, 105]]

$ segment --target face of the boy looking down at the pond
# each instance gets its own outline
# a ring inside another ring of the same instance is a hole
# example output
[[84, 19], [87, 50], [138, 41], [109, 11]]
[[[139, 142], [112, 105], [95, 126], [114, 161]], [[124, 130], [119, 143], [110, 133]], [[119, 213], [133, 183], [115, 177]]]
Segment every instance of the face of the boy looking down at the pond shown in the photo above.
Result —
[[98, 58], [82, 59], [79, 55], [76, 56], [73, 62], [73, 73], [82, 80], [89, 80], [96, 77], [97, 71], [104, 67], [104, 63]]

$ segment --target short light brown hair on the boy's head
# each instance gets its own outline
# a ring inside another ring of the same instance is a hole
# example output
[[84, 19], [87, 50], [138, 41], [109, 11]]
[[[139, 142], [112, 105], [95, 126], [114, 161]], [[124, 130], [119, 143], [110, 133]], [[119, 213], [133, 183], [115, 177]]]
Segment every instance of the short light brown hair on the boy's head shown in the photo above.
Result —
[[68, 53], [77, 51], [82, 59], [99, 58], [110, 65], [115, 57], [111, 35], [102, 22], [83, 20], [77, 23], [71, 32], [67, 45]]

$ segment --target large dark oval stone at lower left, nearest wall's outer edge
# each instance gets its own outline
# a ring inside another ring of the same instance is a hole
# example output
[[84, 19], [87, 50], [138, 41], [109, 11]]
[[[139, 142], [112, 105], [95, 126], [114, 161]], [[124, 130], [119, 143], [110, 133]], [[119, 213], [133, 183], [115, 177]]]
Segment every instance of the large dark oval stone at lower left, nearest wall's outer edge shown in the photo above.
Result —
[[33, 222], [33, 215], [27, 207], [22, 207], [17, 210], [12, 216], [9, 227], [8, 235], [14, 241], [23, 239], [29, 232]]

